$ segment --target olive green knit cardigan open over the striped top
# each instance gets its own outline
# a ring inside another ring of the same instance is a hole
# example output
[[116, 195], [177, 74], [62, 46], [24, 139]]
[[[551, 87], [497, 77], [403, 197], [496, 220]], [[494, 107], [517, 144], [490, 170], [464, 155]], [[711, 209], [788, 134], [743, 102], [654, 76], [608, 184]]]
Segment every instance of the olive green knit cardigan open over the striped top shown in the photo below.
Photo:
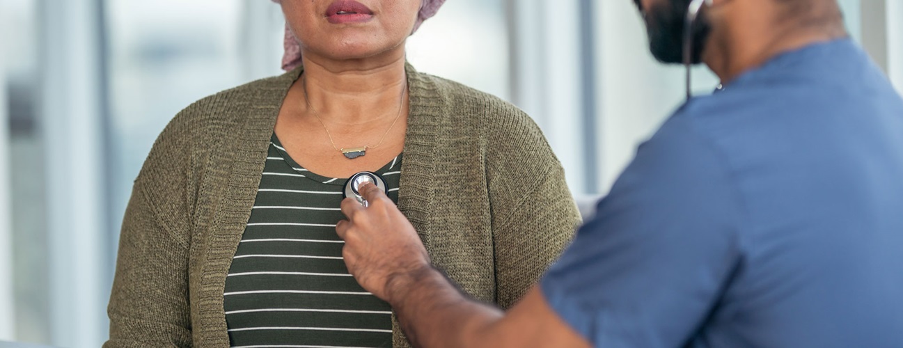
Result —
[[[407, 66], [398, 207], [437, 268], [510, 307], [580, 215], [543, 134], [515, 106]], [[201, 99], [172, 119], [126, 209], [105, 347], [228, 347], [223, 290], [295, 69]], [[397, 322], [394, 346], [409, 346]]]

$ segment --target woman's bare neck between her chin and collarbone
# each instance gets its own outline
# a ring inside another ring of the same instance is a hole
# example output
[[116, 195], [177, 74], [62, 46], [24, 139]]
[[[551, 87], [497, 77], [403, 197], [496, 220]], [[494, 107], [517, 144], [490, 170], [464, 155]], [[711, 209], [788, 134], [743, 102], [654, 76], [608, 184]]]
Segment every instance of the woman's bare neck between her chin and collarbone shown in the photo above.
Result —
[[[303, 78], [295, 85], [309, 100], [297, 102], [326, 124], [381, 125], [395, 117], [403, 103], [407, 86], [404, 50], [367, 60], [334, 61], [305, 55], [303, 64]], [[308, 110], [306, 102], [313, 110]]]

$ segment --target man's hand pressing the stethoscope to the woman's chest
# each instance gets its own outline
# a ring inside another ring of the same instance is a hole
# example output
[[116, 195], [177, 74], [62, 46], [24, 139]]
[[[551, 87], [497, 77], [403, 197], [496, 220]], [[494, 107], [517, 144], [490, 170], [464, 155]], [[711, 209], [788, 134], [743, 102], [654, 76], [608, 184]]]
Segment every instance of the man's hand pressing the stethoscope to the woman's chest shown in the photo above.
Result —
[[345, 241], [342, 256], [360, 285], [392, 303], [393, 288], [404, 288], [418, 274], [433, 270], [420, 236], [382, 189], [365, 184], [358, 192], [369, 206], [354, 198], [341, 202], [348, 220], [336, 225]]

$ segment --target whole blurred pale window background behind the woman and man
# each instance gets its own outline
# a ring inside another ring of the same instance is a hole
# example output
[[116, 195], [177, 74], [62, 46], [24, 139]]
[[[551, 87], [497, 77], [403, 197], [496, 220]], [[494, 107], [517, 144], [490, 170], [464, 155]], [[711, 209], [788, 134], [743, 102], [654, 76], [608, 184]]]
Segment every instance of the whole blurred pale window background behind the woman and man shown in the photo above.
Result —
[[[903, 90], [903, 0], [842, 0]], [[0, 341], [97, 347], [132, 180], [186, 105], [280, 74], [266, 0], [0, 0]], [[629, 0], [449, 0], [408, 42], [424, 72], [531, 114], [575, 197], [604, 195], [684, 98]], [[694, 89], [717, 81], [694, 71]]]

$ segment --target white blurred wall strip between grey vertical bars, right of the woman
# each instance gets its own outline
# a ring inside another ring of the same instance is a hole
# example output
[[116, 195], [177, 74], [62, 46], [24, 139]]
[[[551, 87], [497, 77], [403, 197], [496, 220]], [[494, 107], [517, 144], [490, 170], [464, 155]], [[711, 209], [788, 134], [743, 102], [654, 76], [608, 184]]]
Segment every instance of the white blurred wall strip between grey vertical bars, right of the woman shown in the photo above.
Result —
[[562, 162], [568, 186], [580, 195], [586, 191], [586, 160], [582, 148], [579, 2], [511, 1], [512, 101], [543, 129]]

